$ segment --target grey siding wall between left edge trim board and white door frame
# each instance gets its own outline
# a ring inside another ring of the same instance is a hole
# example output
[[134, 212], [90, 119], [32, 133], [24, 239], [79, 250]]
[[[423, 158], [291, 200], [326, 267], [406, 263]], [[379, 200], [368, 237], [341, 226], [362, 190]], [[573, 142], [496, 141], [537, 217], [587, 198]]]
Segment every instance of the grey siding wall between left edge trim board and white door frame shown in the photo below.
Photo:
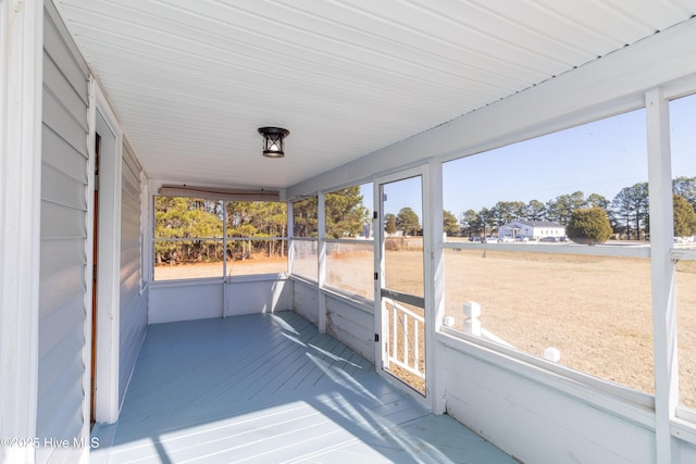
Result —
[[[88, 72], [45, 4], [37, 436], [72, 443], [85, 421]], [[37, 461], [76, 462], [75, 452], [42, 447]]]

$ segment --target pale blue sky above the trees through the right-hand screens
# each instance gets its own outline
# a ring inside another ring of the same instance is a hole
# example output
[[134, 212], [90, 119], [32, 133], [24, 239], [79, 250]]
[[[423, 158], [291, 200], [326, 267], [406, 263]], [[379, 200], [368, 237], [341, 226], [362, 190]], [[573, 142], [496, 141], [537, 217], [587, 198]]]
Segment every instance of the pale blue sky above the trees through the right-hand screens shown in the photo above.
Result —
[[[645, 110], [561, 130], [444, 164], [445, 210], [461, 218], [467, 210], [498, 201], [538, 200], [582, 191], [609, 201], [623, 188], [647, 181]], [[672, 177], [696, 176], [696, 95], [670, 103]], [[414, 179], [387, 185], [386, 213], [409, 206], [422, 217]], [[361, 187], [372, 210], [372, 184]]]

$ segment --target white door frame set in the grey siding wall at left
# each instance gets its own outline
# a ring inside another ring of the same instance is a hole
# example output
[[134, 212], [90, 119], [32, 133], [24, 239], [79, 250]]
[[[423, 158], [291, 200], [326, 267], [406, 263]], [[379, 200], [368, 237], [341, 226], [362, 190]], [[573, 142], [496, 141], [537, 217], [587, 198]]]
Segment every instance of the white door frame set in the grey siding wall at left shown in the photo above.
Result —
[[[85, 340], [91, 339], [91, 296], [95, 256], [92, 255], [95, 215], [95, 143], [96, 134], [101, 137], [99, 166], [99, 269], [97, 274], [97, 342], [95, 419], [113, 424], [119, 418], [119, 350], [120, 350], [120, 265], [121, 265], [121, 154], [123, 131], [119, 121], [97, 81], [89, 83], [89, 173], [87, 185], [87, 263], [85, 281], [88, 309]], [[85, 343], [85, 366], [91, 365], [90, 343]], [[84, 417], [90, 416], [90, 369], [85, 369]], [[89, 428], [89, 421], [86, 427]]]

